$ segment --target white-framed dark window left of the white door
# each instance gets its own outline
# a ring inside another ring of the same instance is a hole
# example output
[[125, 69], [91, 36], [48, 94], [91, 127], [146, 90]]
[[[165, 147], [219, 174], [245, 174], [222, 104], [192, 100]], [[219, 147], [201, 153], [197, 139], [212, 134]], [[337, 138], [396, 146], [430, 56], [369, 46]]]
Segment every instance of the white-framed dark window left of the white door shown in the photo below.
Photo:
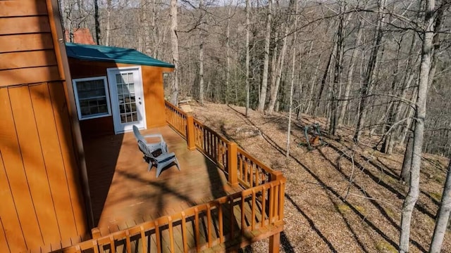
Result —
[[93, 119], [111, 115], [106, 77], [73, 79], [78, 119]]

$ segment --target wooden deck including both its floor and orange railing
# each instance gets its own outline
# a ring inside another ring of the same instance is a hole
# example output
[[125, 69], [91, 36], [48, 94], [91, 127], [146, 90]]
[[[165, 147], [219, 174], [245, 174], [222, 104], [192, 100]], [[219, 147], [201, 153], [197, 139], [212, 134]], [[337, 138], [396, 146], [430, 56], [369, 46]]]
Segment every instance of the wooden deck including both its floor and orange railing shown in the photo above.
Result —
[[178, 157], [181, 171], [168, 167], [158, 179], [131, 133], [85, 141], [97, 228], [90, 240], [52, 250], [234, 252], [269, 238], [268, 251], [277, 253], [283, 174], [168, 102], [166, 121], [171, 127], [142, 131], [163, 134]]

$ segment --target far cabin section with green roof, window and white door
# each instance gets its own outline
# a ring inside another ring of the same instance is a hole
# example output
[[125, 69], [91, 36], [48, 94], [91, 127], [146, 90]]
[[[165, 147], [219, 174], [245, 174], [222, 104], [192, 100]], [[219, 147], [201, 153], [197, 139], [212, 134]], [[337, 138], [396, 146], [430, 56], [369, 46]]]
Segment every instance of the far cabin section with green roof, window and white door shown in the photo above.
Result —
[[82, 136], [166, 125], [163, 72], [172, 64], [113, 46], [66, 43], [66, 52]]

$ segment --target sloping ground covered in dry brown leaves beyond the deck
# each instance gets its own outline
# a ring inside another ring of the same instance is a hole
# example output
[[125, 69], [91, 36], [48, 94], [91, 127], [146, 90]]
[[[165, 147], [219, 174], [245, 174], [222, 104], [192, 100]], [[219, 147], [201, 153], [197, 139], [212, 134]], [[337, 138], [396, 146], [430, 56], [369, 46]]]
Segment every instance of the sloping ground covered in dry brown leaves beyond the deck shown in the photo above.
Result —
[[[302, 115], [292, 120], [290, 157], [288, 117], [265, 115], [245, 108], [214, 103], [192, 104], [194, 116], [235, 141], [248, 153], [287, 178], [285, 231], [280, 252], [397, 252], [402, 201], [407, 186], [397, 180], [402, 149], [385, 155], [371, 148], [378, 136], [352, 140], [352, 129], [340, 129], [331, 138], [325, 119]], [[304, 126], [319, 123], [323, 143], [309, 150]], [[414, 210], [410, 252], [427, 252], [440, 204], [448, 160], [424, 155], [421, 195]], [[267, 252], [267, 241], [246, 252]], [[443, 242], [451, 252], [451, 232]]]

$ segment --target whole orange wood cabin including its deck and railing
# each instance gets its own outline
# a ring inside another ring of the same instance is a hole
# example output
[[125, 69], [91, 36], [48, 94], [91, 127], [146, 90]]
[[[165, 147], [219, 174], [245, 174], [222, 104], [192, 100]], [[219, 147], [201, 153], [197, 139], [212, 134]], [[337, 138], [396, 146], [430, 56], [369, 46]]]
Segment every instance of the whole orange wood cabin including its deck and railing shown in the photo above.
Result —
[[[68, 44], [60, 20], [0, 1], [0, 252], [278, 252], [283, 174], [165, 101], [173, 65]], [[180, 171], [147, 171], [132, 125]]]

